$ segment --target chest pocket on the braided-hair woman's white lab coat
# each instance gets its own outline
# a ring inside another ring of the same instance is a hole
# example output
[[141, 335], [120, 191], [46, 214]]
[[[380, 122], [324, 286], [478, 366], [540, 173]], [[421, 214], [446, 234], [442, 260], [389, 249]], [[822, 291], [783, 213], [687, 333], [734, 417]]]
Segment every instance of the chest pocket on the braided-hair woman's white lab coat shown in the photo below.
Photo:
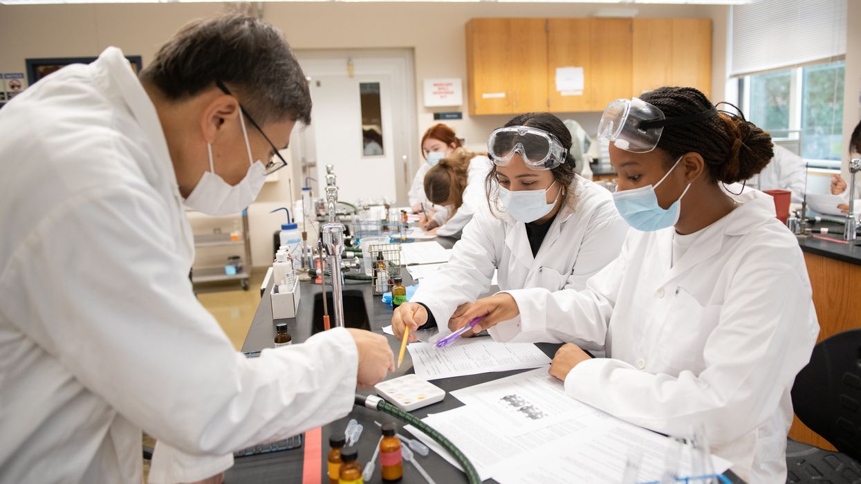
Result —
[[660, 331], [660, 355], [674, 375], [684, 369], [699, 374], [705, 369], [703, 350], [717, 327], [720, 306], [701, 305], [694, 296], [676, 288], [674, 300]]

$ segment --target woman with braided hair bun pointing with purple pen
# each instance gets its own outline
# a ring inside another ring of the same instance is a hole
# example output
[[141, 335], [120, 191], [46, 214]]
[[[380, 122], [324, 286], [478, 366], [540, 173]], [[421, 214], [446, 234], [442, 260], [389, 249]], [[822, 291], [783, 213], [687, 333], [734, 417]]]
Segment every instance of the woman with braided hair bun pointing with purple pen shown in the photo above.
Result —
[[704, 431], [745, 481], [784, 482], [790, 388], [819, 325], [795, 237], [770, 196], [738, 183], [768, 163], [771, 139], [678, 87], [611, 102], [598, 137], [635, 229], [619, 258], [584, 290], [500, 293], [455, 326], [484, 316], [474, 332], [568, 342], [550, 368], [568, 394], [654, 431]]

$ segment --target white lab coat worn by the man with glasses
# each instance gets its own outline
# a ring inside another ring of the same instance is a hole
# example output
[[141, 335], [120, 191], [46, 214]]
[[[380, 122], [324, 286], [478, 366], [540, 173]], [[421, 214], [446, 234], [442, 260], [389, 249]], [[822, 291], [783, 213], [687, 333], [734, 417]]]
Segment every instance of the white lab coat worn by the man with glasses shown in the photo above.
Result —
[[246, 359], [196, 301], [189, 222], [121, 51], [0, 111], [0, 482], [194, 481], [350, 412], [344, 330]]

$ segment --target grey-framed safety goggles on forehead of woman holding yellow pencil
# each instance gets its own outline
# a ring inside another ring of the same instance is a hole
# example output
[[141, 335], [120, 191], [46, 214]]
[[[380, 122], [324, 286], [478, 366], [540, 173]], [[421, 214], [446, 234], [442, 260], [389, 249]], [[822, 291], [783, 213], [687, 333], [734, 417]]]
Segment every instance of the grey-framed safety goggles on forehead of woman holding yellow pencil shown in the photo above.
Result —
[[532, 170], [553, 170], [565, 162], [567, 149], [543, 129], [529, 126], [500, 127], [487, 139], [487, 154], [494, 164], [507, 166], [515, 153]]

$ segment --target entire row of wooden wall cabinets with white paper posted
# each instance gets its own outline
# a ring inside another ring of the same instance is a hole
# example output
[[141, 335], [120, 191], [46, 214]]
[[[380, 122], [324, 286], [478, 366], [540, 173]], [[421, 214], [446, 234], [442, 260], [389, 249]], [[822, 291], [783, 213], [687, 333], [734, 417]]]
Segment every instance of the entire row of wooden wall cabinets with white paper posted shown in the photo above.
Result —
[[[603, 111], [662, 85], [711, 91], [710, 19], [476, 18], [467, 23], [470, 115]], [[556, 70], [582, 67], [559, 90]]]

